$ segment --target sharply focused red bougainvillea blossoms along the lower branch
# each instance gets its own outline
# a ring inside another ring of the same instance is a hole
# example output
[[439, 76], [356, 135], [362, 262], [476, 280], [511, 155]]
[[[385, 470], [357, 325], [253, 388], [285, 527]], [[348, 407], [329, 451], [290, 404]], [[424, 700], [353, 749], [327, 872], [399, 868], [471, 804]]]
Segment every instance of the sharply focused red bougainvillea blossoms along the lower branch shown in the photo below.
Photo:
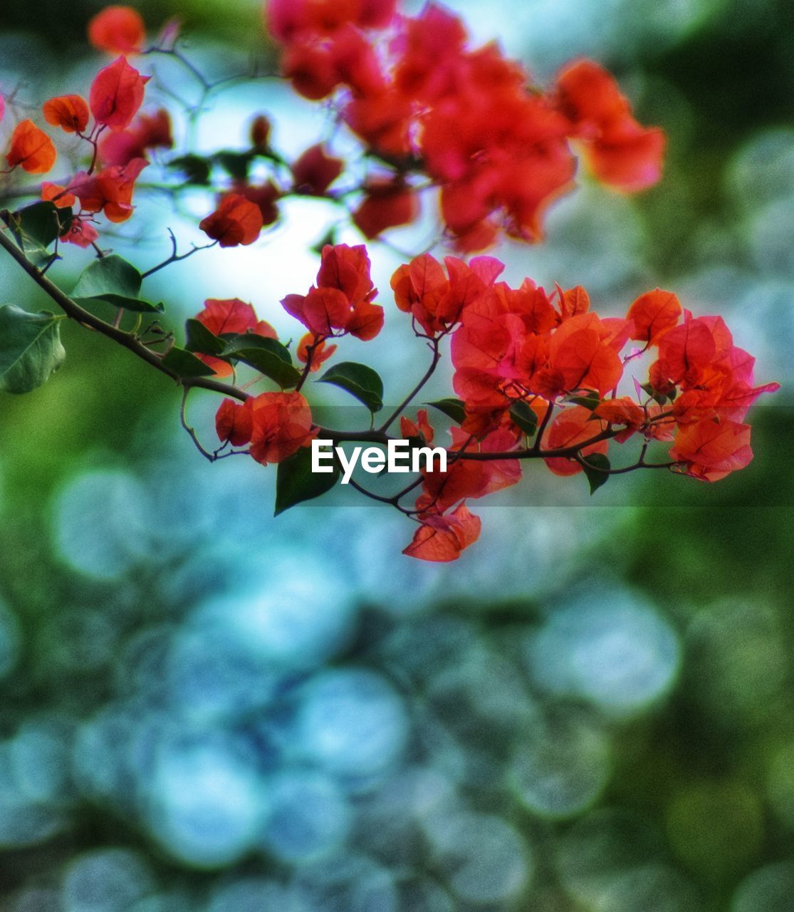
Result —
[[[758, 396], [779, 384], [754, 385], [754, 358], [733, 344], [721, 317], [692, 316], [658, 288], [640, 295], [626, 316], [600, 317], [582, 287], [547, 294], [526, 279], [512, 288], [498, 281], [503, 268], [490, 256], [469, 264], [448, 256], [442, 265], [422, 254], [392, 276], [397, 307], [436, 353], [430, 373], [449, 338], [459, 396], [443, 400], [454, 404], [448, 414], [457, 420], [447, 470], [424, 470], [415, 507], [400, 507], [418, 522], [406, 554], [457, 558], [479, 535], [479, 518], [467, 502], [521, 481], [524, 459], [540, 459], [561, 476], [601, 472], [605, 480], [614, 471], [668, 468], [708, 482], [752, 459], [742, 421]], [[282, 462], [318, 435], [333, 436], [314, 423], [299, 389], [310, 369], [333, 356], [334, 347], [323, 349], [326, 339], [376, 334], [383, 314], [371, 304], [375, 294], [365, 248], [326, 245], [316, 285], [282, 302], [309, 329], [300, 344], [306, 369], [294, 380], [298, 389], [263, 393], [242, 405], [225, 399], [216, 419], [222, 446], [250, 444], [257, 461]], [[208, 301], [197, 318], [219, 337], [275, 337], [240, 301]], [[362, 326], [369, 328], [362, 332]], [[629, 378], [652, 350], [657, 357], [645, 366], [644, 382]], [[201, 358], [217, 376], [231, 373], [228, 361]], [[621, 391], [626, 382], [634, 395]], [[414, 421], [406, 406], [395, 415], [403, 437], [432, 443], [437, 435], [427, 410], [419, 409]], [[384, 445], [387, 425], [376, 438]], [[632, 439], [642, 443], [639, 461], [613, 470], [610, 448]], [[651, 444], [672, 444], [668, 460], [645, 461]]]

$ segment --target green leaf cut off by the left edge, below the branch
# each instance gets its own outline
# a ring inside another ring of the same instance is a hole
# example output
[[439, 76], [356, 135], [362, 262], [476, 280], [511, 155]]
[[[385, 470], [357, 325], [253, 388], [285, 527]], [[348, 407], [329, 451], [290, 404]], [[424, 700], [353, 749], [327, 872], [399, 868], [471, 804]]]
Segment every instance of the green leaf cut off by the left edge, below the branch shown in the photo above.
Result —
[[27, 393], [40, 387], [63, 364], [60, 319], [43, 311], [0, 307], [0, 389]]

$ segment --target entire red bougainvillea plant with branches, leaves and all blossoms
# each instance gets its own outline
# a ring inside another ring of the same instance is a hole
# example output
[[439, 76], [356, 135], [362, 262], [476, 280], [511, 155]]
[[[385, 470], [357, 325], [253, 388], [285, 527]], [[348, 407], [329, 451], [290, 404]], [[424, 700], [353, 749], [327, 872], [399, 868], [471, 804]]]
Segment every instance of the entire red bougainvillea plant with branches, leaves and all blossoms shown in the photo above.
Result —
[[[459, 18], [435, 3], [406, 16], [396, 0], [270, 0], [264, 23], [279, 47], [281, 78], [333, 113], [347, 147], [355, 140], [354, 186], [339, 188], [354, 169], [329, 137], [287, 161], [271, 146], [263, 114], [253, 119], [246, 150], [175, 149], [169, 111], [143, 109], [147, 63], [171, 57], [197, 81], [202, 102], [217, 85], [183, 54], [178, 26], [168, 24], [150, 41], [127, 6], [109, 6], [88, 26], [91, 44], [114, 57], [89, 86], [47, 99], [36, 118], [18, 119], [15, 99], [0, 104], [0, 117], [5, 111], [16, 119], [5, 180], [49, 174], [58, 131], [81, 144], [82, 157], [66, 177], [26, 186], [37, 202], [3, 212], [0, 245], [65, 316], [180, 385], [182, 424], [205, 456], [248, 453], [277, 463], [277, 513], [349, 481], [416, 523], [405, 554], [430, 561], [454, 560], [477, 540], [480, 520], [469, 502], [518, 483], [526, 460], [561, 476], [583, 473], [591, 491], [640, 469], [715, 482], [748, 464], [748, 409], [778, 385], [755, 385], [754, 359], [734, 345], [719, 316], [694, 316], [675, 294], [655, 289], [624, 316], [601, 317], [582, 287], [547, 290], [531, 278], [512, 287], [500, 280], [503, 264], [481, 253], [501, 235], [541, 241], [544, 214], [573, 191], [580, 160], [619, 192], [659, 181], [665, 133], [634, 118], [603, 67], [574, 61], [541, 87], [497, 45], [471, 47]], [[201, 104], [191, 117], [200, 111]], [[170, 256], [141, 272], [108, 251], [107, 240], [114, 225], [134, 216], [136, 184], [152, 150], [165, 155], [174, 177], [166, 190], [176, 196], [198, 185], [216, 202], [197, 219], [207, 244], [180, 253], [171, 233]], [[420, 212], [438, 217], [438, 243], [450, 255], [443, 262], [429, 253], [407, 257], [391, 278], [396, 309], [428, 348], [429, 362], [384, 418], [376, 420], [384, 409], [376, 370], [336, 358], [340, 340], [366, 343], [384, 328], [365, 244], [331, 236], [318, 246], [314, 284], [299, 281], [281, 301], [300, 326], [295, 344], [237, 297], [205, 301], [180, 344], [162, 327], [162, 305], [141, 294], [148, 276], [206, 247], [258, 242], [293, 196], [338, 207], [376, 243]], [[66, 244], [96, 254], [68, 292], [49, 273]], [[100, 316], [100, 305], [115, 308], [115, 318]], [[26, 392], [59, 367], [59, 320], [0, 308], [0, 389]], [[428, 411], [409, 409], [448, 355], [455, 395], [429, 403], [452, 421], [444, 447]], [[325, 362], [319, 380], [363, 403], [371, 415], [364, 430], [315, 420], [309, 381]], [[242, 382], [246, 371], [253, 374]], [[222, 396], [213, 450], [185, 418], [192, 389]], [[397, 492], [352, 478], [345, 444], [389, 451], [400, 440], [397, 426], [411, 447], [435, 442], [434, 452], [449, 458], [414, 466]], [[629, 440], [638, 454], [621, 459]], [[332, 448], [324, 472], [315, 469], [321, 441]]]

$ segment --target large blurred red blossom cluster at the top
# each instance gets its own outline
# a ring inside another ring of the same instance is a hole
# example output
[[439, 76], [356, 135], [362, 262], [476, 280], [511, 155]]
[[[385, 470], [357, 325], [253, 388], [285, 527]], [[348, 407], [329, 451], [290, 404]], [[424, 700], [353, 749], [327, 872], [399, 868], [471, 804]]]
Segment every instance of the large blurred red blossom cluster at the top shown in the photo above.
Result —
[[393, 0], [271, 0], [267, 23], [294, 88], [333, 96], [380, 160], [354, 214], [367, 237], [416, 217], [410, 171], [440, 189], [444, 223], [464, 251], [488, 247], [500, 226], [541, 237], [543, 212], [572, 187], [571, 140], [615, 188], [643, 190], [660, 177], [664, 133], [641, 127], [614, 78], [590, 61], [543, 92], [496, 45], [470, 48], [460, 20], [435, 4], [411, 18]]

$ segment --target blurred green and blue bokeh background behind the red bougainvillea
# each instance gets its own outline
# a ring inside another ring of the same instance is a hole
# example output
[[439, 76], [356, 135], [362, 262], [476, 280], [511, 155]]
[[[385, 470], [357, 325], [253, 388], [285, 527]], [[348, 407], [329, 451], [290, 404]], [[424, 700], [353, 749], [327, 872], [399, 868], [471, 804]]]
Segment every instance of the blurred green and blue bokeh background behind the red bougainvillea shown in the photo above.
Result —
[[[253, 0], [134, 5], [153, 30], [182, 16], [213, 78], [274, 66]], [[471, 504], [483, 533], [457, 564], [428, 565], [376, 506], [273, 520], [273, 471], [207, 464], [167, 381], [65, 327], [57, 376], [0, 399], [2, 912], [794, 908], [794, 6], [449, 6], [541, 81], [595, 57], [668, 131], [653, 191], [583, 179], [545, 244], [496, 253], [510, 280], [585, 285], [599, 312], [661, 285], [725, 316], [758, 379], [783, 384], [752, 412], [756, 459], [717, 485], [633, 475], [593, 501], [582, 478], [528, 471]], [[5, 94], [85, 93], [99, 8], [0, 6]], [[171, 63], [144, 59], [150, 100], [195, 103]], [[267, 79], [207, 107], [204, 151], [244, 148], [256, 110], [288, 157], [327, 125]], [[113, 245], [144, 268], [169, 254], [166, 227], [199, 241], [211, 209], [202, 191], [138, 202], [144, 229]], [[315, 275], [323, 205], [285, 206], [269, 243], [199, 254], [150, 294], [177, 327], [239, 296], [288, 337], [277, 302]], [[372, 257], [387, 289], [400, 257]], [[69, 250], [54, 274], [68, 287], [87, 262]], [[10, 262], [0, 292], [46, 307]], [[397, 400], [423, 366], [381, 302], [387, 332], [342, 354]], [[216, 405], [191, 402], [203, 434]]]

